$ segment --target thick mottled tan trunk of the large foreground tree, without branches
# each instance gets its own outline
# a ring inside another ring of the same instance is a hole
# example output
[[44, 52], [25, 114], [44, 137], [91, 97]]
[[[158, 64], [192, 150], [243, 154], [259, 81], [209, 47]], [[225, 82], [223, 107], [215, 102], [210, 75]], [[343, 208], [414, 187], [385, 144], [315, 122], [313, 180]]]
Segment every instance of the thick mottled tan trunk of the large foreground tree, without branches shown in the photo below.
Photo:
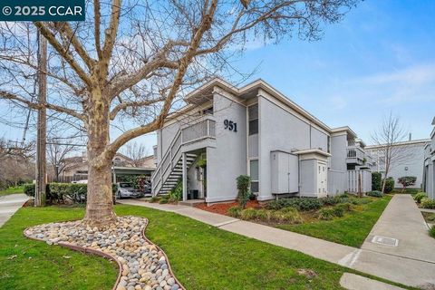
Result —
[[109, 145], [109, 104], [101, 90], [90, 98], [88, 114], [88, 197], [84, 222], [92, 227], [106, 227], [115, 221], [111, 193], [111, 157], [104, 151]]

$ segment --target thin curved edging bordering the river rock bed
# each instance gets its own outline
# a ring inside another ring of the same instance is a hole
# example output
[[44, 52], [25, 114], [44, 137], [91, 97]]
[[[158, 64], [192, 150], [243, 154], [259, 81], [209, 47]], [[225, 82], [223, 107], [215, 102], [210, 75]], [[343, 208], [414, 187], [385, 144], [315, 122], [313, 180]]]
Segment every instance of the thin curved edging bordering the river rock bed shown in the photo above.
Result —
[[[143, 218], [143, 217], [139, 217], [139, 218]], [[148, 243], [150, 243], [151, 245], [153, 245], [154, 247], [156, 247], [158, 250], [161, 251], [163, 256], [165, 256], [165, 258], [166, 258], [166, 264], [168, 265], [169, 273], [172, 275], [172, 277], [174, 278], [175, 282], [179, 285], [179, 289], [180, 290], [186, 290], [186, 288], [179, 282], [179, 279], [177, 278], [177, 276], [174, 275], [174, 272], [172, 271], [172, 267], [170, 266], [170, 263], [169, 263], [169, 258], [166, 255], [166, 253], [161, 249], [161, 247], [159, 247], [156, 244], [154, 244], [153, 242], [151, 242], [151, 240], [148, 237], [145, 237], [145, 231], [146, 231], [146, 229], [147, 229], [147, 227], [148, 227], [148, 225], [150, 223], [148, 218], [145, 218], [145, 219], [146, 219], [146, 224], [145, 224], [145, 227], [143, 228], [143, 230], [141, 232], [141, 236], [143, 237], [144, 240], [146, 240]], [[77, 220], [80, 220], [80, 219], [68, 220], [68, 221], [77, 221]], [[66, 222], [66, 221], [64, 221], [64, 222]], [[35, 226], [39, 226], [39, 225], [35, 225]], [[32, 228], [32, 227], [26, 227], [26, 228], [24, 228], [24, 231], [23, 231], [24, 237], [27, 237], [27, 238], [35, 240], [35, 241], [40, 241], [40, 242], [46, 243], [46, 241], [43, 240], [42, 238], [31, 237], [27, 233], [27, 231], [30, 230], [30, 228]], [[121, 282], [122, 265], [121, 265], [120, 261], [118, 261], [118, 259], [115, 256], [111, 256], [110, 254], [107, 254], [107, 253], [104, 253], [102, 251], [95, 250], [95, 249], [92, 249], [92, 248], [89, 248], [89, 247], [75, 246], [75, 245], [70, 244], [70, 243], [59, 242], [59, 243], [53, 243], [53, 245], [59, 245], [61, 247], [67, 247], [67, 248], [69, 248], [71, 250], [74, 250], [74, 251], [77, 251], [77, 252], [81, 252], [81, 253], [87, 254], [87, 255], [102, 256], [102, 257], [105, 257], [105, 258], [107, 258], [107, 259], [109, 259], [111, 261], [114, 261], [118, 265], [118, 277], [116, 278], [115, 285], [113, 285], [112, 290], [116, 290], [117, 289], [118, 285]]]

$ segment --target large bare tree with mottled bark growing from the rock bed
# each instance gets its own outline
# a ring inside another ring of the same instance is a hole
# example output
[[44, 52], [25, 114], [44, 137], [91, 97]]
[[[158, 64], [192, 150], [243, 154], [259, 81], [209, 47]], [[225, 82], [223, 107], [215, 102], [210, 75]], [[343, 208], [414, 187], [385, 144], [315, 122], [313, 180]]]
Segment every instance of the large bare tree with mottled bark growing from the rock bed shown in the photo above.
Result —
[[[84, 222], [102, 227], [115, 219], [111, 160], [122, 145], [159, 129], [184, 92], [226, 75], [247, 41], [317, 40], [323, 24], [341, 20], [357, 1], [94, 0], [85, 22], [5, 23], [0, 98], [79, 121], [88, 136]], [[45, 103], [28, 90], [38, 70], [35, 30], [49, 43]], [[121, 123], [137, 127], [111, 140], [111, 126]]]

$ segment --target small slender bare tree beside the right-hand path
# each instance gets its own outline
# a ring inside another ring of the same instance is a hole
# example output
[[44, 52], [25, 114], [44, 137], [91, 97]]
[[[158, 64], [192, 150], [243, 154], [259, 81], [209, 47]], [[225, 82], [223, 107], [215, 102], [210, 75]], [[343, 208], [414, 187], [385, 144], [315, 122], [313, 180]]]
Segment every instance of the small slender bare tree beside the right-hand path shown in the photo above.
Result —
[[405, 140], [407, 132], [403, 129], [400, 119], [392, 113], [385, 117], [382, 125], [372, 133], [372, 140], [378, 145], [379, 162], [382, 162], [384, 179], [382, 181], [382, 192], [385, 191], [385, 183], [391, 168], [409, 160], [409, 147], [400, 144]]

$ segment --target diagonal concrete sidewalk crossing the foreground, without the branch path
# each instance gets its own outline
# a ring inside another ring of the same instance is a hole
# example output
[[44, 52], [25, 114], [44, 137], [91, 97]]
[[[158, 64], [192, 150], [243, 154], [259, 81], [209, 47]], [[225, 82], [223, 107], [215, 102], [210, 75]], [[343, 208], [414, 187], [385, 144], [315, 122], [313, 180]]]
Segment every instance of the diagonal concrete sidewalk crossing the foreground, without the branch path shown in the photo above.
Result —
[[[392, 199], [394, 200], [395, 198]], [[160, 205], [141, 200], [122, 200], [121, 203], [175, 212], [181, 216], [197, 219], [198, 221], [202, 221], [214, 227], [219, 227], [229, 232], [256, 238], [257, 240], [275, 246], [300, 251], [309, 256], [314, 256], [341, 266], [347, 266], [404, 285], [435, 285], [435, 263], [432, 263], [431, 261], [394, 255], [392, 253], [382, 253], [377, 251], [376, 248], [360, 249], [348, 247], [275, 227], [267, 227], [256, 223], [238, 220], [237, 218], [230, 218], [210, 213], [198, 208], [177, 205]], [[410, 207], [410, 204], [405, 206], [405, 208]], [[390, 209], [395, 211], [395, 208], [395, 206], [387, 207], [388, 211], [390, 211]], [[387, 209], [385, 209], [385, 211], [387, 211]], [[412, 208], [411, 212], [413, 210], [417, 210], [420, 213], [418, 208]], [[382, 216], [384, 215], [389, 217], [391, 214], [382, 214]], [[380, 218], [380, 221], [383, 223], [383, 218]], [[402, 231], [400, 228], [396, 228], [396, 230]], [[411, 226], [406, 228], [406, 232], [409, 236], [412, 236], [415, 230], [416, 229]], [[417, 230], [420, 231], [420, 229]], [[422, 245], [420, 245], [420, 247], [422, 247]], [[433, 289], [435, 289], [435, 286]]]

